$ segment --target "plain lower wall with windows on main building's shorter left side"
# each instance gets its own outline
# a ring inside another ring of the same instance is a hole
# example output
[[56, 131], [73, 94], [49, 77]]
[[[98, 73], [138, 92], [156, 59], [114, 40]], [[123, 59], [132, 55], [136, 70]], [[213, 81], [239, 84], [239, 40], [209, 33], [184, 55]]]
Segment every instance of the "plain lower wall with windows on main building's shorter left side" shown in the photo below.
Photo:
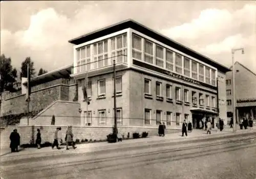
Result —
[[[82, 87], [85, 85], [86, 79], [78, 80], [78, 101], [81, 103], [82, 110], [81, 126], [113, 126], [113, 73], [88, 78], [87, 94], [90, 100], [89, 105], [83, 101]], [[129, 93], [129, 72], [116, 72], [116, 116], [118, 125], [129, 125]]]

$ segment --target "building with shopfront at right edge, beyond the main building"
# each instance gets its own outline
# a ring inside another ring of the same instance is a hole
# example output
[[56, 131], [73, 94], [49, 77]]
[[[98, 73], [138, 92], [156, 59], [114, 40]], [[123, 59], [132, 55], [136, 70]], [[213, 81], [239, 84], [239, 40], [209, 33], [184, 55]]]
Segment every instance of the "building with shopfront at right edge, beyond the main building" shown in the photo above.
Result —
[[[246, 117], [256, 120], [256, 74], [243, 64], [234, 63], [237, 121]], [[232, 66], [230, 68], [232, 70]], [[233, 72], [226, 74], [227, 117], [233, 115]]]

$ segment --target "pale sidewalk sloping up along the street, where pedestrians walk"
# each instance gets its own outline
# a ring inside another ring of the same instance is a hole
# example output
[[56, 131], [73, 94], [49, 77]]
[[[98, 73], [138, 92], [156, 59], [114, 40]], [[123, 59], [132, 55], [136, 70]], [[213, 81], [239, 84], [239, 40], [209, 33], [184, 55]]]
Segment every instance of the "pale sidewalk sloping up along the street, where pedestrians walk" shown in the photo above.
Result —
[[101, 150], [110, 150], [115, 148], [132, 148], [136, 146], [157, 144], [157, 143], [170, 143], [170, 142], [191, 142], [193, 140], [203, 140], [203, 139], [214, 139], [214, 138], [228, 138], [234, 135], [242, 135], [246, 133], [255, 133], [256, 127], [253, 129], [247, 130], [237, 130], [236, 133], [233, 133], [230, 129], [225, 129], [220, 131], [217, 129], [213, 129], [211, 131], [211, 135], [207, 135], [206, 131], [200, 129], [194, 129], [191, 133], [187, 133], [187, 137], [181, 136], [181, 132], [179, 133], [170, 133], [166, 134], [164, 137], [159, 136], [151, 136], [148, 138], [140, 138], [140, 139], [131, 139], [131, 140], [123, 140], [122, 142], [117, 143], [108, 143], [108, 142], [98, 142], [98, 143], [85, 143], [85, 144], [77, 144], [77, 148], [75, 150], [70, 147], [70, 150], [66, 150], [66, 146], [61, 146], [62, 149], [52, 149], [51, 147], [45, 147], [41, 149], [37, 148], [25, 148], [21, 149], [19, 152], [11, 153], [10, 148], [4, 149], [2, 152], [1, 149], [1, 158], [8, 158], [9, 156], [19, 157], [33, 157], [35, 155], [58, 155], [60, 153], [85, 153], [85, 152], [95, 152]]

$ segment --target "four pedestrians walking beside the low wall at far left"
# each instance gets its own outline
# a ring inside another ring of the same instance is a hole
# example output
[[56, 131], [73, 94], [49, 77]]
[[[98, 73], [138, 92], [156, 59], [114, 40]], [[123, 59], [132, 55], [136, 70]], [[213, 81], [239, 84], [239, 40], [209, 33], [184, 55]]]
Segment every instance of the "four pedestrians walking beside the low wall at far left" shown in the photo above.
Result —
[[[62, 143], [62, 139], [61, 139], [61, 127], [57, 127], [55, 132], [54, 132], [54, 141], [52, 144], [52, 149], [54, 149], [54, 147], [56, 146], [57, 149], [61, 149], [60, 148], [60, 144]], [[67, 133], [66, 133], [66, 137], [65, 137], [65, 141], [66, 141], [66, 149], [69, 150], [69, 146], [72, 145], [72, 147], [75, 149], [75, 142], [73, 141], [73, 132], [72, 132], [72, 126], [68, 126], [67, 129]], [[12, 152], [18, 152], [18, 146], [20, 145], [20, 136], [19, 133], [17, 132], [17, 129], [14, 129], [11, 132], [10, 135], [10, 148]], [[37, 148], [41, 148], [41, 133], [40, 133], [40, 129], [37, 129], [37, 134], [36, 134], [36, 141], [35, 144], [37, 146]]]

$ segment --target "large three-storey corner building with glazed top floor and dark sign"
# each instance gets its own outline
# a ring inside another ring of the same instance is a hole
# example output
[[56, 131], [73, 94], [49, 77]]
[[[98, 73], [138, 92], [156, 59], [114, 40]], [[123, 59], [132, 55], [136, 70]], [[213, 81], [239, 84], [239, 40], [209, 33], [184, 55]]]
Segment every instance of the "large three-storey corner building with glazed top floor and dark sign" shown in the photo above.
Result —
[[230, 70], [222, 64], [131, 19], [69, 42], [75, 45], [71, 76], [78, 81], [82, 126], [113, 126], [114, 59], [118, 129], [156, 130], [160, 122], [180, 129], [184, 119], [197, 128], [204, 117], [216, 126], [217, 93], [224, 101], [219, 117], [226, 123], [225, 74]]

